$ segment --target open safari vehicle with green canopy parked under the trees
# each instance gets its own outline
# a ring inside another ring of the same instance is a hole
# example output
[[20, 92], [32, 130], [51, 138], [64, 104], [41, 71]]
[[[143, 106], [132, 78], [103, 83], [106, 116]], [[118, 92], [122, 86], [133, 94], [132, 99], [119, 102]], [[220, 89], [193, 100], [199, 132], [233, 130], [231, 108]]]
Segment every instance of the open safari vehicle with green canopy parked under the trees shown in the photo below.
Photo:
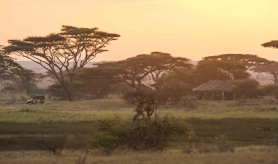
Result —
[[46, 90], [28, 90], [28, 95], [31, 96], [30, 100], [27, 100], [27, 104], [44, 104], [46, 100]]

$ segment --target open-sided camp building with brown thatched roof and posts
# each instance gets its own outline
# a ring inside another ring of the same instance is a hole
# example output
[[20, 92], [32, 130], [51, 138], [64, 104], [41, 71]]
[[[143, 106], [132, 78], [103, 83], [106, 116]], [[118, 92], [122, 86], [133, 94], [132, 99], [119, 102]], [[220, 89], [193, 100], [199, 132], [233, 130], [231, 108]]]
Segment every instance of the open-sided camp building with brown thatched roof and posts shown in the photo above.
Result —
[[232, 90], [234, 87], [227, 81], [216, 80], [204, 83], [193, 91], [198, 100], [235, 100], [236, 92]]

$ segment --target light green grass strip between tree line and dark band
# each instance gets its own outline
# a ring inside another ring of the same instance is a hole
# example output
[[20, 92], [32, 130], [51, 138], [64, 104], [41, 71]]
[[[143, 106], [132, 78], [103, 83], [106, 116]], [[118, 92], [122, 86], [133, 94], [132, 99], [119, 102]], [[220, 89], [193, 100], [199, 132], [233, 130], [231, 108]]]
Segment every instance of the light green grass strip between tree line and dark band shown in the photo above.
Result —
[[[201, 104], [202, 103], [202, 104]], [[206, 104], [205, 104], [206, 103]], [[172, 114], [176, 118], [265, 118], [278, 119], [278, 107], [274, 104], [245, 104], [236, 102], [199, 102], [197, 109], [160, 107], [159, 114]], [[0, 107], [0, 122], [45, 123], [94, 121], [98, 118], [120, 115], [131, 117], [133, 106], [123, 100], [92, 100], [76, 102], [48, 102], [46, 104], [9, 104]]]

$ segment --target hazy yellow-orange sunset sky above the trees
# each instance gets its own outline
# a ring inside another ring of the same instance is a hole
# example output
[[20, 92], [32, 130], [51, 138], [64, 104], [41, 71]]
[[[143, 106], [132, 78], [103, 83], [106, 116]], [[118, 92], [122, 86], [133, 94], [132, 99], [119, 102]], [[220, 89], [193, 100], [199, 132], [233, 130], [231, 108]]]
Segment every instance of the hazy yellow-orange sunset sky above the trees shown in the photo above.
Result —
[[277, 0], [0, 0], [0, 45], [72, 25], [121, 35], [95, 61], [152, 51], [191, 60], [224, 53], [278, 60], [278, 50], [260, 46], [278, 40], [277, 8]]

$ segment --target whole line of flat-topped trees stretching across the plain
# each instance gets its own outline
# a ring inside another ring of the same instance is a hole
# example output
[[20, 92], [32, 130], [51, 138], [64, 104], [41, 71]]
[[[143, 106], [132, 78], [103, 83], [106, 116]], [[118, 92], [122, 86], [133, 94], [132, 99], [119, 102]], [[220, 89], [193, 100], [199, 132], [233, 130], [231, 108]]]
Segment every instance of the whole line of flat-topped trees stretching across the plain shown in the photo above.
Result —
[[[6, 73], [10, 71], [17, 75], [17, 78], [13, 77], [13, 81], [20, 81], [22, 88], [27, 90], [34, 88], [35, 84], [44, 77], [32, 70], [22, 68], [7, 55], [15, 54], [27, 57], [44, 67], [48, 76], [51, 75], [58, 83], [51, 86], [49, 90], [69, 101], [74, 101], [74, 97], [79, 98], [86, 94], [102, 98], [111, 93], [113, 88], [119, 90], [119, 86], [124, 88], [129, 86], [129, 89], [139, 90], [144, 86], [143, 81], [146, 78], [160, 83], [162, 88], [165, 88], [161, 92], [164, 96], [162, 94], [161, 97], [167, 99], [167, 94], [169, 95], [172, 91], [170, 94], [172, 100], [178, 101], [181, 96], [176, 95], [185, 95], [190, 92], [190, 88], [209, 80], [234, 81], [249, 78], [248, 69], [258, 73], [272, 74], [274, 84], [277, 85], [277, 62], [249, 54], [203, 57], [193, 67], [189, 64], [190, 60], [184, 57], [172, 57], [168, 53], [152, 52], [118, 62], [98, 63], [91, 69], [84, 68], [96, 55], [107, 51], [105, 47], [118, 37], [119, 34], [101, 32], [98, 28], [63, 25], [59, 33], [28, 36], [22, 40], [8, 40], [9, 45], [1, 50], [1, 57], [4, 57], [0, 63], [1, 79], [9, 77], [11, 79], [11, 74]], [[278, 48], [277, 45], [278, 41], [262, 44], [263, 47], [270, 48]], [[79, 69], [82, 71], [77, 73]], [[91, 73], [88, 74], [88, 72]], [[84, 75], [81, 76], [81, 74]], [[121, 93], [119, 95], [123, 96]]]

